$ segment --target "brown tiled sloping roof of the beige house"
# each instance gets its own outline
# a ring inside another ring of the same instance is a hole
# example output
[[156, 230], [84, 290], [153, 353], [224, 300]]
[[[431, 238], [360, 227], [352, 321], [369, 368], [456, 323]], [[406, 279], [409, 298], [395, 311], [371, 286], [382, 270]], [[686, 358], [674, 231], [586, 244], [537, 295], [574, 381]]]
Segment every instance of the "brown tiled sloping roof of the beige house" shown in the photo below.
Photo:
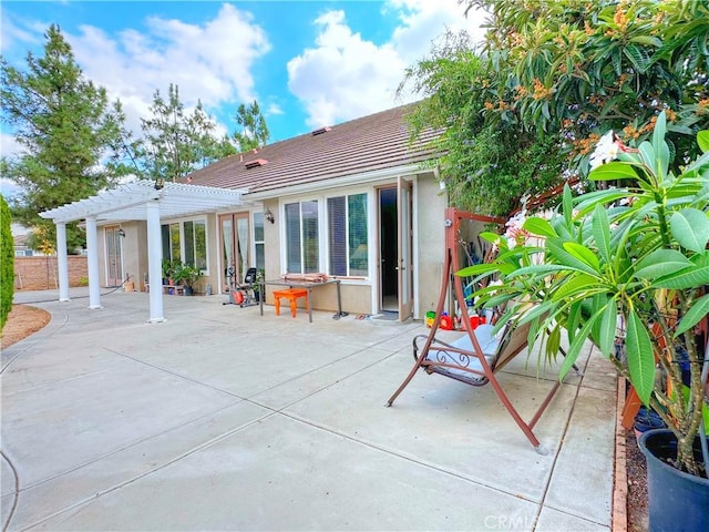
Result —
[[402, 105], [230, 155], [189, 177], [194, 184], [263, 193], [420, 163], [433, 157], [427, 144], [438, 133], [427, 130], [409, 144], [404, 117], [414, 106]]

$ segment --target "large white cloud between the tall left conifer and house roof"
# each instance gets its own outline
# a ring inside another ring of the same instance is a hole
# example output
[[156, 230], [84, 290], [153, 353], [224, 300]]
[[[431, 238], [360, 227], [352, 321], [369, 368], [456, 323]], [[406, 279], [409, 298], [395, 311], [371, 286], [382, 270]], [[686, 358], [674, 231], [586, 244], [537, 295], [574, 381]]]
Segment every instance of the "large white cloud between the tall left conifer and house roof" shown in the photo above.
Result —
[[120, 98], [129, 126], [137, 131], [148, 115], [156, 90], [166, 95], [169, 83], [179, 88], [186, 108], [197, 100], [207, 110], [256, 98], [250, 69], [270, 48], [251, 16], [224, 4], [203, 24], [151, 17], [147, 29], [126, 29], [117, 35], [82, 25], [65, 34], [84, 73]]

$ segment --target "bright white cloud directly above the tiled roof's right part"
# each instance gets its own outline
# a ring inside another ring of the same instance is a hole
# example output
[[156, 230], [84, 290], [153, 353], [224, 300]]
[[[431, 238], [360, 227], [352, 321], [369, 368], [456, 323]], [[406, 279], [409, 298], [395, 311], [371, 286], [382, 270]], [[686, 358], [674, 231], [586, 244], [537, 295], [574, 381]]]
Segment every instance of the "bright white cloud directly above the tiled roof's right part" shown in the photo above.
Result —
[[371, 114], [420, 98], [395, 92], [407, 66], [423, 59], [431, 42], [446, 29], [465, 29], [482, 40], [484, 17], [456, 0], [389, 0], [383, 16], [393, 13], [399, 25], [383, 44], [352, 31], [342, 10], [315, 20], [314, 48], [288, 62], [288, 88], [305, 106], [308, 125], [318, 127]]

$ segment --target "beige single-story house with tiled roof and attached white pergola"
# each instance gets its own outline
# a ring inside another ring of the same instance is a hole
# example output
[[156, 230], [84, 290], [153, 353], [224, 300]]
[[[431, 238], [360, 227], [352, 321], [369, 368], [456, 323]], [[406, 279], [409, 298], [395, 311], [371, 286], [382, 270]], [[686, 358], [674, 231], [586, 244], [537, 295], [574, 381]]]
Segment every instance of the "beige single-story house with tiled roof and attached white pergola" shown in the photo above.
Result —
[[[202, 268], [202, 291], [225, 293], [230, 267], [237, 279], [249, 266], [266, 279], [325, 273], [340, 280], [346, 311], [422, 319], [438, 297], [448, 203], [428, 145], [436, 133], [410, 144], [412, 105], [232, 155], [179, 183], [133, 183], [42, 215], [60, 238], [61, 224], [86, 221], [90, 307], [100, 306], [99, 285], [160, 285], [160, 262], [169, 258]], [[151, 320], [160, 321], [154, 291]], [[336, 287], [314, 290], [311, 305], [336, 310]]]

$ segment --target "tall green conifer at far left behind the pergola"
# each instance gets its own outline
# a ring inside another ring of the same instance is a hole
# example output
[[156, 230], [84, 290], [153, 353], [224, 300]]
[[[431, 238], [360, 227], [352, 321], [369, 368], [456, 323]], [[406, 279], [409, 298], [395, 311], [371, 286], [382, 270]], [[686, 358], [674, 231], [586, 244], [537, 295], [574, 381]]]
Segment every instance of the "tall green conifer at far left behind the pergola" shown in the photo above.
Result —
[[[119, 143], [120, 123], [105, 90], [83, 76], [59, 27], [51, 25], [45, 38], [44, 55], [28, 53], [25, 69], [1, 59], [1, 117], [24, 151], [2, 158], [0, 175], [22, 190], [12, 202], [14, 219], [53, 235], [54, 225], [38, 213], [115, 182], [114, 168], [102, 161]], [[66, 229], [71, 253], [85, 241], [74, 224]]]

